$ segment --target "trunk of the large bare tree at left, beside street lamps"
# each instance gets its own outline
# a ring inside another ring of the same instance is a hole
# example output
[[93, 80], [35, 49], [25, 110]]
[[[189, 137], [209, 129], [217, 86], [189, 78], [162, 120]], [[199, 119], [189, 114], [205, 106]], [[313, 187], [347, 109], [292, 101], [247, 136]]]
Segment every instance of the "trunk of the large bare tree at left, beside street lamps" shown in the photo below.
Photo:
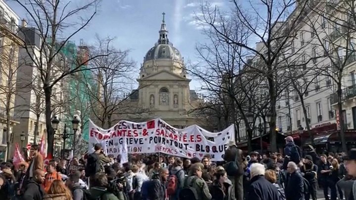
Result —
[[51, 110], [51, 94], [52, 88], [48, 84], [44, 84], [45, 91], [45, 121], [47, 129], [47, 155], [53, 155], [54, 145], [54, 130], [52, 128], [52, 110]]

